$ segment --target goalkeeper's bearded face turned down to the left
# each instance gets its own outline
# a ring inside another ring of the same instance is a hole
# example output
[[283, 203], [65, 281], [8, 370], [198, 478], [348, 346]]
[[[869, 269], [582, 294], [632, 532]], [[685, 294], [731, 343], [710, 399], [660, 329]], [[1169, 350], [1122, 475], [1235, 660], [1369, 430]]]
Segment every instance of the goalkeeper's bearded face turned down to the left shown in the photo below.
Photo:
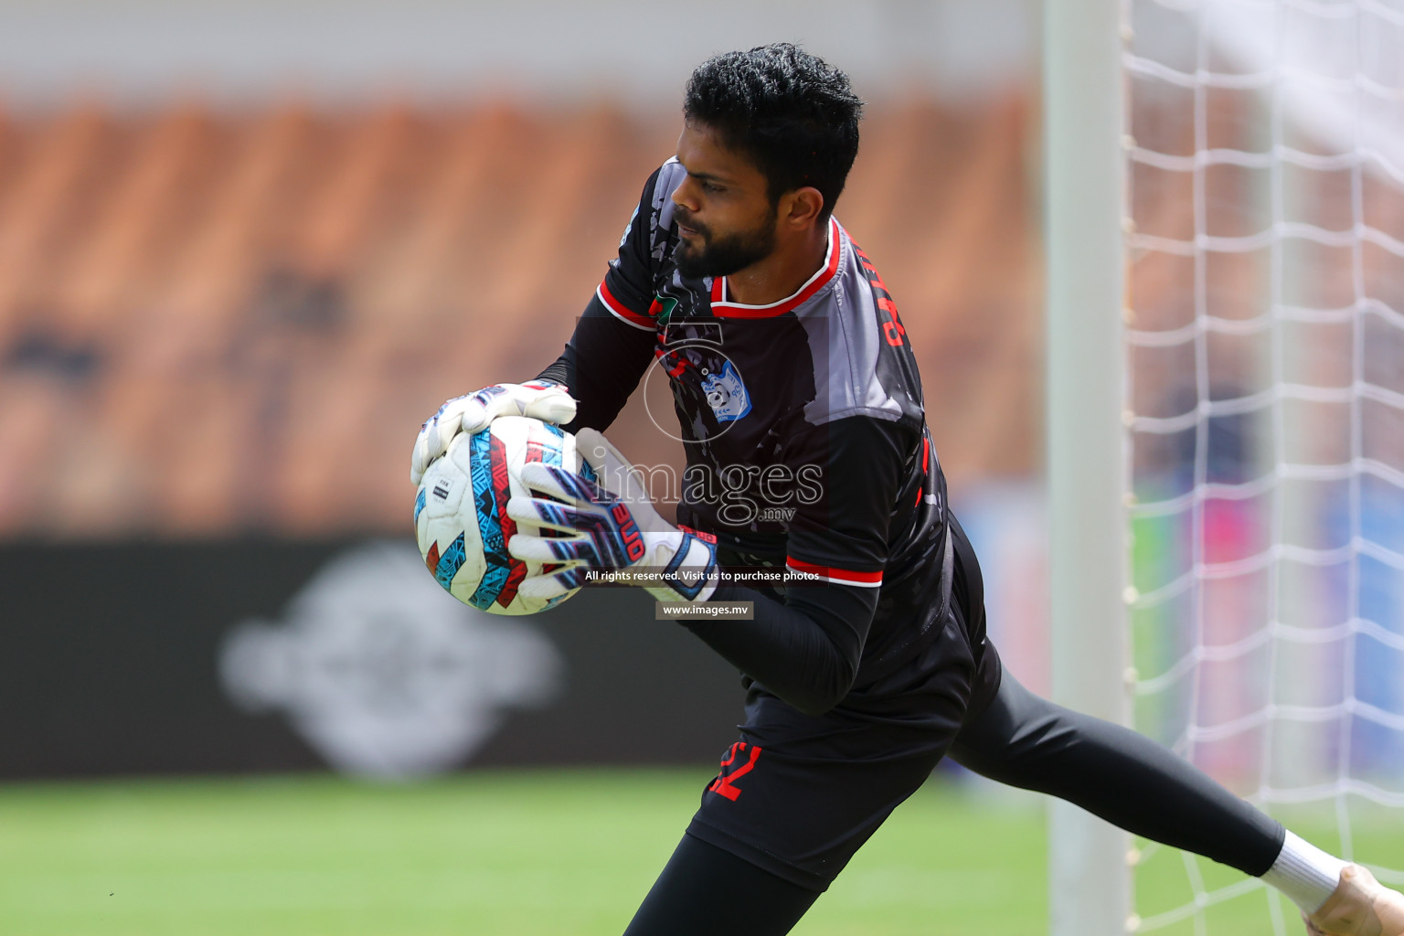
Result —
[[761, 170], [694, 123], [678, 138], [678, 161], [688, 170], [673, 192], [680, 274], [729, 276], [775, 253], [779, 212]]

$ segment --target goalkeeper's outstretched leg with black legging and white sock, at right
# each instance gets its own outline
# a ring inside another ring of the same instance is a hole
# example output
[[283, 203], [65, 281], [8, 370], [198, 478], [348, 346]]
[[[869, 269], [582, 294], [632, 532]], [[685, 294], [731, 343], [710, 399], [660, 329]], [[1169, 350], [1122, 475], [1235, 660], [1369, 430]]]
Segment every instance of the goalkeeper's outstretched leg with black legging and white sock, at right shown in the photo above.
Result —
[[1261, 877], [1313, 936], [1404, 936], [1404, 895], [1304, 842], [1130, 728], [1040, 699], [1004, 672], [951, 756], [1000, 783], [1074, 803], [1113, 825]]

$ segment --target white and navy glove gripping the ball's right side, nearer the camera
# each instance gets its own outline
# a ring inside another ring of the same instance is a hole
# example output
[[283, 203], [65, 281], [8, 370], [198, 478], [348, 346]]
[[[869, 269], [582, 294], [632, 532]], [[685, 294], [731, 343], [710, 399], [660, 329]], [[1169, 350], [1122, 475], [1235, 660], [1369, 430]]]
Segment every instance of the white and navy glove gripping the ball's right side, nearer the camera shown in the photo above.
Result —
[[[522, 484], [545, 497], [514, 497], [507, 515], [560, 536], [517, 533], [507, 551], [546, 563], [549, 571], [522, 580], [519, 594], [555, 598], [591, 581], [590, 573], [629, 570], [658, 601], [703, 602], [716, 591], [716, 547], [658, 516], [637, 469], [600, 432], [580, 429], [576, 452], [600, 483], [549, 464], [522, 466]], [[545, 500], [555, 498], [555, 500]]]

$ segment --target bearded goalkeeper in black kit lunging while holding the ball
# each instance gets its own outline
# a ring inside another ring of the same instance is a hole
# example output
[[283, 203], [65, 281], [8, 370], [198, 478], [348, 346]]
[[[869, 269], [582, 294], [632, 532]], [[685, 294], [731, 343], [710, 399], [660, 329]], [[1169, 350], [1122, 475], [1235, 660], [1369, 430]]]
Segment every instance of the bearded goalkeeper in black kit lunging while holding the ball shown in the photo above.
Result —
[[[906, 328], [831, 215], [861, 108], [792, 45], [699, 66], [677, 156], [644, 184], [564, 354], [531, 383], [451, 400], [416, 442], [417, 483], [497, 415], [577, 434], [598, 484], [529, 464], [536, 497], [508, 505], [552, 533], [508, 544], [549, 563], [522, 594], [632, 568], [657, 573], [663, 601], [754, 603], [754, 620], [682, 620], [744, 675], [746, 723], [626, 936], [789, 932], [946, 755], [1262, 877], [1310, 933], [1404, 936], [1404, 897], [1363, 867], [1001, 669]], [[688, 457], [677, 526], [600, 435], [656, 362]], [[781, 568], [795, 577], [719, 574]]]

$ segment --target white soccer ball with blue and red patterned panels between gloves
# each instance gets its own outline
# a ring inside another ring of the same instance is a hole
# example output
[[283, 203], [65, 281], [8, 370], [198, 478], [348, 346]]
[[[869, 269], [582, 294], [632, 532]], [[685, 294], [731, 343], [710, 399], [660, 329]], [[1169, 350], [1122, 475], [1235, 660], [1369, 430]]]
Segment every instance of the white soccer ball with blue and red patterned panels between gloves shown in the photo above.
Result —
[[494, 615], [535, 615], [578, 591], [557, 598], [525, 598], [517, 591], [524, 578], [542, 571], [541, 563], [507, 553], [514, 533], [541, 535], [541, 528], [507, 516], [507, 498], [531, 495], [519, 477], [528, 462], [595, 479], [576, 453], [576, 436], [541, 420], [507, 415], [482, 432], [455, 436], [424, 472], [414, 497], [414, 535], [430, 574], [453, 598]]

